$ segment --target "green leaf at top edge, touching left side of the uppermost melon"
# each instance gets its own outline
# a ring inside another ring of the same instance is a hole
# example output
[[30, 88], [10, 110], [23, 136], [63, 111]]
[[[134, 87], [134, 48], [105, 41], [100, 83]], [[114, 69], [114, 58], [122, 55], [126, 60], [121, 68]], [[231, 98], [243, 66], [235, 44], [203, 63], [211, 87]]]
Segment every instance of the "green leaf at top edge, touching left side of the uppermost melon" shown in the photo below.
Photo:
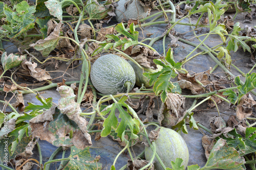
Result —
[[86, 8], [90, 19], [103, 19], [108, 16], [108, 12], [112, 10], [111, 8], [106, 8], [104, 5], [99, 5], [93, 0], [89, 0], [84, 8]]

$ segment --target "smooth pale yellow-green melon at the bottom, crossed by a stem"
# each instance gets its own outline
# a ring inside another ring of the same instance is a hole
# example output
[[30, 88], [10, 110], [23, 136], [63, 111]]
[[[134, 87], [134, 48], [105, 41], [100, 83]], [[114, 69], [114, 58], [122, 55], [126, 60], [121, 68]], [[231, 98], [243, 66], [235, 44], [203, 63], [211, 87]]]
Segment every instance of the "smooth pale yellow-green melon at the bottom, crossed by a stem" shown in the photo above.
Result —
[[[187, 167], [189, 153], [187, 149], [186, 142], [176, 131], [164, 127], [160, 127], [159, 137], [155, 140], [156, 143], [156, 153], [161, 158], [163, 164], [166, 167], [172, 168], [170, 161], [176, 160], [176, 158], [181, 158], [183, 160], [182, 165], [184, 168]], [[145, 158], [150, 160], [153, 155], [153, 151], [150, 147], [145, 147]], [[157, 158], [155, 169], [163, 169]]]

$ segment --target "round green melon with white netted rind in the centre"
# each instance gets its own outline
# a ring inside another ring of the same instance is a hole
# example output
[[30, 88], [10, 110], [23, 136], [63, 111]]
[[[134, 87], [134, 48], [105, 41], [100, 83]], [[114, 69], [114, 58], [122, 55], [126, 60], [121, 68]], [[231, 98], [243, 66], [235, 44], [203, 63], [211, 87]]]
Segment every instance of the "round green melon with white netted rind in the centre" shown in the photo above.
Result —
[[126, 93], [135, 85], [133, 67], [117, 55], [108, 54], [99, 57], [91, 68], [93, 86], [102, 94]]

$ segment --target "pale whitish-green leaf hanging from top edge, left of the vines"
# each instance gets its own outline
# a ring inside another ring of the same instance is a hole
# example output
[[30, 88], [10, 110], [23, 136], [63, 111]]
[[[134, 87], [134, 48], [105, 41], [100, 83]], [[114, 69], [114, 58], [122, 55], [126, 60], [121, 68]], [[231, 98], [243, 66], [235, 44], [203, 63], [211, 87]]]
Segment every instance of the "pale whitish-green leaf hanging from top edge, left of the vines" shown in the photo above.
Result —
[[49, 9], [50, 14], [62, 20], [62, 7], [58, 0], [49, 0], [45, 2], [46, 7]]

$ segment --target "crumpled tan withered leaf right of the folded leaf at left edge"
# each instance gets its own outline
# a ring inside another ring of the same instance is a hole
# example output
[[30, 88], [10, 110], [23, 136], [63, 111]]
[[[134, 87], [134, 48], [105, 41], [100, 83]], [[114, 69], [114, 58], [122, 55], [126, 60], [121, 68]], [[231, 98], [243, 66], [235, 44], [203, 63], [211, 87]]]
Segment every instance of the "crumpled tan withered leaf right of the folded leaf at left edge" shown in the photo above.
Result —
[[22, 67], [26, 71], [29, 71], [30, 75], [33, 78], [35, 78], [39, 81], [52, 79], [52, 77], [46, 71], [46, 69], [36, 68], [36, 66], [37, 66], [37, 64], [35, 62], [30, 62], [30, 61], [22, 62]]

